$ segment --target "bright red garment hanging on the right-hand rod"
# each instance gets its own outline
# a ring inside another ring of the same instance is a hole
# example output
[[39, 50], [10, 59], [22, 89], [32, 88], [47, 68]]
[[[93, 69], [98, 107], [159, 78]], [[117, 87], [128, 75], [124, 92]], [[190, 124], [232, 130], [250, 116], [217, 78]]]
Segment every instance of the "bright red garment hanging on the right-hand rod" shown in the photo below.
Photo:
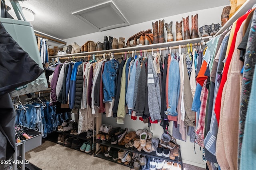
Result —
[[218, 90], [218, 93], [217, 93], [217, 96], [216, 96], [216, 101], [215, 101], [215, 106], [214, 106], [214, 111], [215, 111], [215, 114], [216, 114], [216, 119], [218, 121], [218, 124], [219, 124], [219, 121], [220, 121], [220, 105], [221, 105], [222, 92], [223, 92], [224, 84], [226, 83], [226, 80], [227, 80], [228, 68], [229, 68], [230, 61], [232, 59], [232, 55], [233, 55], [234, 49], [235, 49], [236, 35], [237, 35], [237, 32], [238, 32], [240, 26], [242, 25], [242, 22], [244, 20], [246, 20], [249, 13], [250, 12], [248, 12], [247, 14], [244, 14], [243, 16], [238, 18], [238, 20], [236, 22], [236, 28], [235, 28], [235, 31], [234, 31], [234, 36], [233, 36], [233, 39], [232, 39], [232, 43], [231, 43], [231, 46], [230, 46], [228, 57], [226, 59], [226, 64], [225, 64], [224, 69], [223, 69], [222, 79], [220, 81], [220, 86], [219, 86], [219, 90]]

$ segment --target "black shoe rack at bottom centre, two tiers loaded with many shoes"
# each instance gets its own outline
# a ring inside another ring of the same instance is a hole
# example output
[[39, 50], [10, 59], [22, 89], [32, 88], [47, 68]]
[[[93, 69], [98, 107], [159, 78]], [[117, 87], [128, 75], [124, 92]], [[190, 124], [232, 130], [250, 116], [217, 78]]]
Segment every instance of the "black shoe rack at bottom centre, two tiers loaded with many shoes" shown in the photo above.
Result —
[[[127, 150], [129, 152], [132, 152], [132, 153], [137, 153], [137, 154], [142, 154], [144, 156], [150, 156], [150, 157], [153, 157], [153, 158], [156, 158], [156, 159], [162, 159], [162, 160], [166, 160], [166, 161], [169, 161], [169, 162], [176, 162], [178, 164], [181, 165], [181, 169], [183, 169], [183, 165], [182, 165], [182, 157], [181, 157], [181, 152], [180, 152], [180, 149], [179, 149], [179, 156], [176, 156], [174, 160], [168, 158], [168, 157], [165, 157], [165, 156], [157, 156], [156, 155], [156, 151], [153, 151], [153, 152], [145, 152], [144, 150], [141, 150], [140, 152], [135, 148], [135, 147], [129, 147], [129, 148], [126, 148], [122, 145], [118, 145], [118, 144], [115, 144], [115, 145], [111, 145], [110, 142], [106, 143], [102, 143], [101, 140], [97, 139], [95, 141], [96, 143], [100, 144], [100, 145], [103, 145], [103, 146], [106, 146], [106, 147], [112, 147], [112, 148], [116, 148], [116, 149], [122, 149], [122, 150]], [[180, 146], [179, 146], [180, 147]], [[129, 168], [133, 168], [133, 162], [134, 160], [131, 160], [131, 162], [126, 165], [124, 163], [118, 163], [117, 161], [114, 161], [112, 158], [109, 158], [109, 157], [106, 157], [104, 155], [104, 153], [101, 152], [101, 150], [98, 150], [98, 151], [95, 151], [94, 152], [94, 156], [98, 157], [98, 158], [102, 158], [102, 159], [105, 159], [105, 160], [109, 160], [111, 162], [115, 162], [117, 164], [121, 164], [121, 165], [124, 165], [124, 166], [128, 166]]]

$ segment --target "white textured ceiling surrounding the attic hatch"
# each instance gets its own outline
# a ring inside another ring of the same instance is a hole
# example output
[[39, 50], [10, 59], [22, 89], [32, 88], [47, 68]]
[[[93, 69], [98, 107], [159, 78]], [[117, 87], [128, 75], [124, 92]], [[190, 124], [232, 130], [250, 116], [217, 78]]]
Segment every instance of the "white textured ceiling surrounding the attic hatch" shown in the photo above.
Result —
[[[24, 2], [20, 2], [20, 6], [34, 11], [35, 20], [31, 23], [36, 31], [52, 35], [59, 39], [68, 39], [98, 31], [92, 25], [72, 15], [72, 12], [77, 12], [107, 1], [109, 0], [25, 0]], [[130, 25], [229, 4], [229, 0], [112, 1]], [[6, 1], [6, 4], [10, 5], [8, 1]]]

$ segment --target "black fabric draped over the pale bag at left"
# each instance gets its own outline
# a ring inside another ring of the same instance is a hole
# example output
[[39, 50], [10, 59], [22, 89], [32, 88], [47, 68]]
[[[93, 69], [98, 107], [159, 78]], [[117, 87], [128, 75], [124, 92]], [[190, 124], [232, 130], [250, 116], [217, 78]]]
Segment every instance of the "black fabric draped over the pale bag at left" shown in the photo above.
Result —
[[[36, 80], [44, 70], [30, 58], [0, 23], [0, 96]], [[17, 89], [18, 90], [18, 89]]]

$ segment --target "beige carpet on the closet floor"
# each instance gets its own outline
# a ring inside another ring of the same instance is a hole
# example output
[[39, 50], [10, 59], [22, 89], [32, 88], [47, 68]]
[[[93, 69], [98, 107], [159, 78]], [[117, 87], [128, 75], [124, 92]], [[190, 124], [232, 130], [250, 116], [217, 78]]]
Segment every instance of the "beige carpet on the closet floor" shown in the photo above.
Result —
[[40, 147], [27, 152], [25, 158], [42, 170], [130, 170], [126, 166], [45, 140]]

